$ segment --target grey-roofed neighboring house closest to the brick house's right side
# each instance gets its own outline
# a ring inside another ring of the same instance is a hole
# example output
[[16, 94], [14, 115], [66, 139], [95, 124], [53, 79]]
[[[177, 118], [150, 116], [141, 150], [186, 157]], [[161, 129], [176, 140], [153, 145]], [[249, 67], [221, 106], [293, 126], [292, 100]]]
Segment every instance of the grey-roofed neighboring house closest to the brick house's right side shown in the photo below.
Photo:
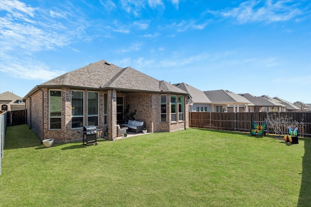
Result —
[[173, 85], [186, 91], [190, 95], [189, 111], [212, 111], [211, 101], [203, 91], [186, 83], [175, 83]]

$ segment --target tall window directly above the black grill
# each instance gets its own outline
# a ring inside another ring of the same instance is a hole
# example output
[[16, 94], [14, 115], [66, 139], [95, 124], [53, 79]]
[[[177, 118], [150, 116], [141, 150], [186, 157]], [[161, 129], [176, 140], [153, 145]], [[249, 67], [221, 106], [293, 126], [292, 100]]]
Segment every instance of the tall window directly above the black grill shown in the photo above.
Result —
[[87, 93], [87, 125], [98, 126], [98, 93]]

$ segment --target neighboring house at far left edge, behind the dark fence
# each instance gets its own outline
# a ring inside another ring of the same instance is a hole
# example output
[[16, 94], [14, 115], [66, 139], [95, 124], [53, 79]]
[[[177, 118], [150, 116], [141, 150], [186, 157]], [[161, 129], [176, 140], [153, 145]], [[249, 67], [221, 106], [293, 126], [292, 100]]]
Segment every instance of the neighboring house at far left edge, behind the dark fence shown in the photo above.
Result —
[[25, 102], [22, 97], [19, 97], [11, 92], [0, 94], [0, 110], [1, 111], [18, 111], [25, 109]]

